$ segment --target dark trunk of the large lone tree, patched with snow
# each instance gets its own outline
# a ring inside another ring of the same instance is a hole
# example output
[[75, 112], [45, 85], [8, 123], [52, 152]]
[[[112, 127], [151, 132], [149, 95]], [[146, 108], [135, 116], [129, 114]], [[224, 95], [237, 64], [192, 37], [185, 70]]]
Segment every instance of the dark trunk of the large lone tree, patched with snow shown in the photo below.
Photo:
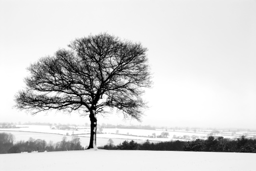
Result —
[[90, 121], [91, 121], [91, 138], [90, 138], [90, 144], [87, 149], [95, 149], [97, 150], [96, 146], [96, 132], [97, 132], [97, 118], [95, 115], [95, 110], [90, 111]]

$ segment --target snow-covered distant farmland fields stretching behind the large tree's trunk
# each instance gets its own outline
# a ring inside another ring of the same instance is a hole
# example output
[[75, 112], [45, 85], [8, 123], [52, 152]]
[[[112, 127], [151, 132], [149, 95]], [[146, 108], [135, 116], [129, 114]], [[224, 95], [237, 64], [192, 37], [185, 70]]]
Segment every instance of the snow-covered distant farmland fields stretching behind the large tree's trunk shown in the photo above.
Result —
[[[71, 127], [69, 130], [58, 129], [57, 126], [40, 126], [40, 125], [17, 125], [21, 128], [0, 128], [0, 132], [12, 133], [16, 137], [16, 141], [27, 141], [30, 137], [34, 139], [44, 139], [47, 142], [50, 140], [54, 143], [62, 140], [63, 136], [66, 136], [68, 140], [71, 140], [72, 134], [79, 136], [81, 145], [87, 146], [90, 142], [90, 127], [79, 126]], [[99, 130], [99, 129], [98, 129]], [[103, 128], [102, 133], [97, 134], [97, 145], [106, 145], [111, 138], [114, 144], [117, 145], [124, 140], [135, 140], [138, 143], [142, 143], [146, 140], [152, 142], [159, 141], [171, 141], [181, 140], [188, 141], [192, 138], [206, 139], [212, 130], [141, 130], [141, 129], [118, 129], [118, 128]], [[156, 136], [161, 135], [162, 132], [168, 132], [167, 138], [153, 138], [152, 134]], [[219, 133], [214, 136], [222, 136], [224, 138], [238, 138], [239, 136], [246, 135], [248, 138], [255, 138], [255, 132], [248, 131], [225, 131], [219, 130]]]

